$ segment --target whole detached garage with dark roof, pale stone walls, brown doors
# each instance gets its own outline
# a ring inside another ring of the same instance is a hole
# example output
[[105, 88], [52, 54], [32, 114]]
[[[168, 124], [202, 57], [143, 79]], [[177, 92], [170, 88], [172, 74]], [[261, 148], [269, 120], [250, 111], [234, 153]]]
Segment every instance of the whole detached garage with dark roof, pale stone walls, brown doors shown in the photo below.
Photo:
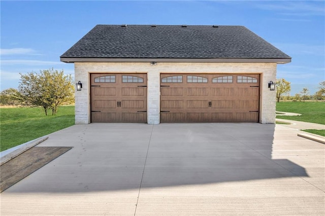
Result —
[[291, 57], [244, 26], [96, 25], [60, 60], [82, 84], [76, 124], [275, 123]]

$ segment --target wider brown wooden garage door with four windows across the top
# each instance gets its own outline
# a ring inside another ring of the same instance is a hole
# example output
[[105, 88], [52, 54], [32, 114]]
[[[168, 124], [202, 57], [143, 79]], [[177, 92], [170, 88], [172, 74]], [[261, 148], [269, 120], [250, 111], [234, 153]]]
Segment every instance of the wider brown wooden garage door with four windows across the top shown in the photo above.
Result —
[[258, 122], [258, 74], [161, 74], [160, 122]]

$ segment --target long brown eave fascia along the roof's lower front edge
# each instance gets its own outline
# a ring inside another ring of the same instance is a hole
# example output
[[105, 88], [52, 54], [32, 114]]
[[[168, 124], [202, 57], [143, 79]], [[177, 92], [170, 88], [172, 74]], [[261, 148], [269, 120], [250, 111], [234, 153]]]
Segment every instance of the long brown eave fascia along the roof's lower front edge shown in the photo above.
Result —
[[60, 57], [66, 63], [75, 62], [219, 62], [219, 63], [277, 63], [291, 62], [291, 58], [83, 58]]

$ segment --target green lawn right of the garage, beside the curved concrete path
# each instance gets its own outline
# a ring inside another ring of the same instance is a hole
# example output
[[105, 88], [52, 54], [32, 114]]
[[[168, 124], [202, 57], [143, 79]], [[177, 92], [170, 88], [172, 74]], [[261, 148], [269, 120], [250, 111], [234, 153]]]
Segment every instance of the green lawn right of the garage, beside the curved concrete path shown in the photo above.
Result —
[[325, 125], [325, 102], [280, 101], [276, 103], [276, 111], [302, 114], [301, 116], [276, 116], [278, 119], [289, 119]]

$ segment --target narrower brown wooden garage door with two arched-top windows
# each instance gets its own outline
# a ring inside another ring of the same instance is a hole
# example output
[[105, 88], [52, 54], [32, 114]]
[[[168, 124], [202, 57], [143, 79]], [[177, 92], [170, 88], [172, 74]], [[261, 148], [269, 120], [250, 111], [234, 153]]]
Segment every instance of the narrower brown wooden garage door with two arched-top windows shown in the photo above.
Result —
[[91, 122], [147, 122], [146, 74], [91, 74]]

